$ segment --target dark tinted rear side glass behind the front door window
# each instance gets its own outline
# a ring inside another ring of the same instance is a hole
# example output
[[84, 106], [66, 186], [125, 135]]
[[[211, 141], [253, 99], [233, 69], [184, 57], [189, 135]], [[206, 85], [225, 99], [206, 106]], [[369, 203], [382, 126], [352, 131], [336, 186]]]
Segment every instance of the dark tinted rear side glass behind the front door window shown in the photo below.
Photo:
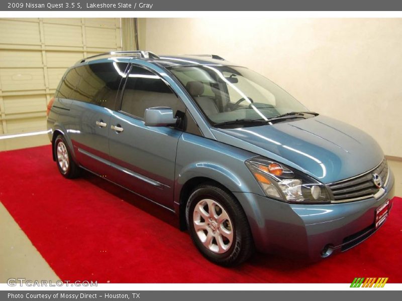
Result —
[[[99, 63], [72, 69], [59, 88], [65, 98], [114, 108], [127, 63]], [[67, 91], [67, 92], [63, 92]], [[58, 97], [61, 97], [58, 95]]]

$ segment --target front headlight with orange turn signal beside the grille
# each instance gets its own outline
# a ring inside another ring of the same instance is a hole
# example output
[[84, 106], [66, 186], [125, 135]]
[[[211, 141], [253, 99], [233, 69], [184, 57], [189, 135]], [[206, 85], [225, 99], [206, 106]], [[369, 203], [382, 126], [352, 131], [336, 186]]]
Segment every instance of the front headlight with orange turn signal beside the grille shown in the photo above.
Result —
[[267, 197], [288, 203], [330, 203], [325, 185], [302, 172], [263, 157], [247, 160], [246, 166]]

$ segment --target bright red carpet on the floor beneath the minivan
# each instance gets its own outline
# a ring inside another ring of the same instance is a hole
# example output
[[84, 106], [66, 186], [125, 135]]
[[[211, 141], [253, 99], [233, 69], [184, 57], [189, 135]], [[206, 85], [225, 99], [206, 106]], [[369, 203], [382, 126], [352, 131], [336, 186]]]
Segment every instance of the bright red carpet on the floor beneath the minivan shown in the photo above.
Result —
[[345, 253], [313, 264], [256, 254], [223, 268], [204, 259], [159, 206], [88, 173], [62, 178], [50, 146], [2, 152], [0, 169], [0, 201], [62, 280], [350, 283], [369, 276], [402, 282], [400, 198], [384, 226]]

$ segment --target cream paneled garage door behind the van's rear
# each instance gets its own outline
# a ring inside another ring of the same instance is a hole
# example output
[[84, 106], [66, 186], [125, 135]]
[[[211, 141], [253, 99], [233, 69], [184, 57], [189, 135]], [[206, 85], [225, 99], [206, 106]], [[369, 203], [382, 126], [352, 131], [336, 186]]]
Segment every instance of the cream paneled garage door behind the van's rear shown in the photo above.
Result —
[[0, 134], [46, 129], [67, 67], [121, 50], [120, 19], [0, 19]]

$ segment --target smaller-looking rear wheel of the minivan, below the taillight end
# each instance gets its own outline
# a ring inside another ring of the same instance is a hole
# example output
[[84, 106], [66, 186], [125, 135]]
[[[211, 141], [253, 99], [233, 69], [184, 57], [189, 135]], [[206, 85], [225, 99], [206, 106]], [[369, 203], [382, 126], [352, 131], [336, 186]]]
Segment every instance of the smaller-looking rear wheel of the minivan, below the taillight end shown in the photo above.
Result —
[[71, 151], [63, 135], [58, 135], [54, 141], [54, 155], [60, 174], [67, 179], [79, 176], [80, 169], [71, 157]]

